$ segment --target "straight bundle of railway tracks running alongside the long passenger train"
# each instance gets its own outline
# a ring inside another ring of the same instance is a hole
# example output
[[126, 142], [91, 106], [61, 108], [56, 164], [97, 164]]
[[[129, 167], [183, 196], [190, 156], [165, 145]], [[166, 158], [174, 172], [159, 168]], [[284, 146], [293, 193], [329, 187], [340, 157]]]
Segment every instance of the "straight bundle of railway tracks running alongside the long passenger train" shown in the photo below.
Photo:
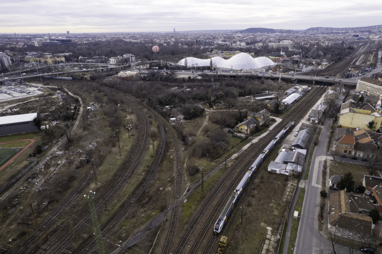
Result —
[[[315, 87], [315, 89], [309, 92], [303, 100], [296, 103], [293, 107], [293, 111], [288, 113], [283, 118], [283, 122], [298, 122], [301, 120], [307, 113], [307, 110], [309, 110], [316, 103], [325, 90], [326, 87]], [[304, 102], [306, 103], [303, 104]], [[255, 158], [256, 155], [260, 154], [270, 140], [273, 139], [273, 137], [280, 132], [282, 128], [284, 128], [284, 125], [285, 124], [279, 124], [272, 129], [266, 138], [263, 138], [256, 143], [256, 146], [250, 148], [248, 156], [241, 157], [239, 161], [224, 174], [219, 183], [216, 184], [216, 187], [208, 193], [207, 197], [205, 197], [197, 212], [188, 223], [190, 224], [190, 227], [186, 229], [186, 232], [184, 232], [178, 248], [174, 250], [173, 253], [196, 253], [199, 248], [203, 248], [203, 253], [211, 252], [214, 243], [216, 242], [216, 235], [213, 234], [211, 225], [215, 222], [216, 217], [219, 215], [221, 207], [225, 205], [226, 199], [232, 192], [232, 189], [237, 185], [238, 181], [242, 178], [245, 169], [248, 169], [252, 164], [253, 159], [250, 158]], [[240, 170], [242, 173], [235, 173], [237, 169], [242, 169]], [[211, 207], [212, 209], [209, 209]], [[229, 219], [226, 226], [227, 225], [229, 225]], [[210, 237], [208, 237], [209, 234]], [[190, 246], [189, 250], [185, 250], [186, 245]]]

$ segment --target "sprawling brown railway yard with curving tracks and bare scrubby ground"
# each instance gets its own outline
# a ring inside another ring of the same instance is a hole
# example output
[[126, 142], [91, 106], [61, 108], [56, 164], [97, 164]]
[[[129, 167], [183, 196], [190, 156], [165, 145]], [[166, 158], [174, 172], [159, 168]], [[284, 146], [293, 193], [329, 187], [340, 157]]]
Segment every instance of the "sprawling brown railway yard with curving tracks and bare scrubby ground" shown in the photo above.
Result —
[[[187, 175], [190, 155], [179, 132], [144, 101], [95, 82], [31, 84], [41, 85], [41, 93], [0, 102], [3, 111], [49, 112], [43, 119], [50, 125], [13, 137], [35, 140], [28, 155], [47, 147], [32, 157], [39, 164], [0, 194], [0, 247], [6, 253], [94, 253], [97, 226], [104, 253], [214, 253], [221, 235], [229, 239], [225, 253], [260, 252], [269, 228], [280, 234], [289, 205], [283, 201], [288, 177], [266, 169], [276, 153], [254, 173], [220, 235], [214, 224], [254, 159], [327, 91], [314, 86], [265, 137], [227, 161], [251, 139], [235, 141], [203, 169], [201, 181], [199, 174]], [[202, 121], [192, 124], [202, 128]], [[1, 184], [30, 164], [28, 155], [0, 171]], [[97, 220], [84, 199], [91, 190]]]

